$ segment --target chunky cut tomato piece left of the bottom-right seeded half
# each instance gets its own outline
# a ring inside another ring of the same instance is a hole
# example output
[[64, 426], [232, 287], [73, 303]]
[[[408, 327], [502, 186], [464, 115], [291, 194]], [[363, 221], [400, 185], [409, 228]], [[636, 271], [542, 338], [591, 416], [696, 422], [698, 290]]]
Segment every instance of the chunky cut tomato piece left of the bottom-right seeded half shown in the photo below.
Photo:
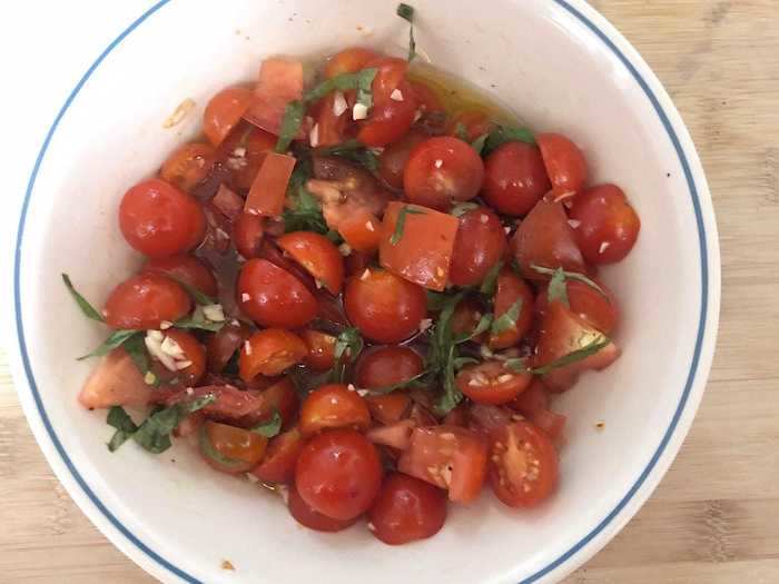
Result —
[[441, 488], [450, 501], [479, 496], [486, 475], [487, 446], [477, 433], [460, 426], [416, 428], [397, 469]]

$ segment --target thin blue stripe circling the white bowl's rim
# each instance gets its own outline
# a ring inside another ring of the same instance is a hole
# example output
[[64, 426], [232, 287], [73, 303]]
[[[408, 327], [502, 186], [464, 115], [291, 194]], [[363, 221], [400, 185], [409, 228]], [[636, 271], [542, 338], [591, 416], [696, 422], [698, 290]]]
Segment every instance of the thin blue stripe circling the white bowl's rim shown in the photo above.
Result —
[[[68, 456], [68, 454], [65, 452], [65, 448], [62, 447], [62, 443], [59, 441], [57, 437], [57, 434], [55, 433], [52, 426], [51, 426], [51, 420], [49, 419], [49, 416], [46, 413], [46, 408], [43, 407], [43, 403], [40, 397], [40, 393], [38, 392], [38, 385], [36, 384], [34, 375], [32, 374], [32, 367], [30, 365], [30, 358], [27, 353], [27, 342], [24, 339], [24, 329], [22, 326], [22, 314], [21, 314], [21, 300], [20, 300], [20, 273], [21, 273], [21, 249], [22, 249], [22, 240], [23, 240], [23, 235], [24, 235], [24, 220], [27, 218], [27, 212], [29, 209], [30, 205], [30, 198], [32, 197], [32, 190], [34, 188], [36, 184], [36, 178], [38, 176], [38, 171], [40, 169], [41, 162], [43, 160], [43, 157], [46, 156], [46, 152], [49, 148], [49, 143], [51, 142], [51, 138], [55, 135], [55, 131], [57, 130], [59, 122], [61, 121], [62, 117], [65, 113], [68, 111], [68, 108], [70, 105], [73, 102], [76, 97], [78, 96], [79, 91], [81, 88], [86, 85], [86, 82], [89, 80], [91, 75], [95, 72], [95, 70], [102, 63], [102, 61], [108, 57], [108, 55], [122, 41], [125, 40], [135, 29], [137, 29], [144, 21], [146, 21], [149, 17], [151, 17], [154, 13], [156, 13], [160, 8], [162, 8], [165, 4], [167, 4], [170, 0], [160, 0], [157, 2], [155, 6], [152, 6], [149, 10], [147, 10], [144, 14], [140, 16], [135, 22], [132, 22], [121, 34], [119, 34], [107, 48], [106, 50], [100, 53], [100, 56], [95, 60], [95, 62], [89, 67], [87, 72], [81, 77], [79, 82], [76, 85], [73, 90], [71, 91], [70, 96], [68, 96], [68, 99], [65, 101], [65, 105], [60, 109], [59, 113], [55, 118], [53, 123], [51, 125], [51, 128], [49, 129], [46, 139], [43, 140], [43, 145], [40, 148], [40, 151], [38, 154], [38, 158], [36, 159], [36, 164], [32, 168], [32, 172], [30, 175], [30, 179], [27, 186], [27, 192], [24, 194], [24, 200], [22, 204], [22, 209], [21, 209], [21, 216], [19, 219], [19, 230], [17, 235], [17, 244], [16, 244], [16, 254], [14, 254], [14, 263], [13, 263], [13, 301], [14, 301], [14, 307], [16, 307], [16, 325], [17, 325], [17, 335], [19, 338], [19, 348], [20, 348], [20, 354], [21, 354], [21, 359], [22, 359], [22, 365], [24, 368], [24, 374], [27, 375], [28, 384], [30, 386], [30, 390], [32, 392], [32, 397], [36, 403], [36, 407], [38, 408], [38, 413], [40, 415], [40, 418], [43, 423], [43, 426], [46, 428], [46, 432], [48, 433], [49, 437], [51, 438], [52, 444], [55, 445], [55, 448], [57, 449], [57, 453], [61, 457], [62, 462], [67, 466], [68, 471], [72, 475], [72, 477], [76, 479], [78, 485], [81, 487], [83, 493], [89, 497], [89, 499], [95, 504], [95, 506], [102, 513], [102, 515], [116, 527], [132, 545], [138, 547], [144, 554], [146, 554], [149, 558], [151, 558], [154, 562], [162, 566], [164, 568], [168, 570], [170, 573], [175, 574], [179, 578], [184, 580], [185, 582], [191, 583], [191, 584], [201, 584], [199, 580], [196, 577], [191, 576], [190, 574], [186, 573], [184, 570], [175, 566], [171, 564], [169, 561], [167, 561], [165, 557], [159, 555], [157, 552], [151, 550], [148, 545], [146, 545], [144, 542], [141, 542], [136, 535], [134, 535], [107, 507], [106, 505], [96, 496], [96, 494], [92, 492], [91, 488], [89, 488], [89, 485], [86, 483], [81, 474], [78, 472], [76, 466], [73, 465], [72, 461]], [[625, 493], [624, 497], [618, 503], [618, 505], [609, 513], [603, 521], [601, 521], [595, 527], [590, 531], [584, 537], [582, 537], [575, 545], [573, 545], [570, 550], [568, 550], [565, 553], [563, 553], [560, 557], [558, 557], [555, 561], [551, 562], [548, 566], [540, 570], [535, 574], [531, 575], [530, 577], [523, 580], [520, 584], [530, 584], [532, 582], [536, 582], [539, 578], [545, 576], [563, 563], [565, 563], [569, 558], [571, 558], [573, 555], [575, 555], [580, 550], [582, 550], [585, 545], [588, 545], [598, 534], [600, 534], [603, 528], [605, 528], [607, 525], [609, 525], [617, 515], [624, 508], [624, 506], [631, 501], [631, 498], [635, 495], [635, 493], [641, 488], [643, 485], [644, 481], [647, 477], [650, 475], [654, 466], [657, 465], [658, 461], [660, 459], [660, 456], [664, 452], [665, 447], [668, 446], [668, 443], [670, 442], [673, 432], [677, 428], [677, 425], [679, 423], [679, 418], [681, 417], [684, 406], [687, 405], [687, 400], [689, 398], [690, 392], [692, 389], [692, 384], [696, 378], [696, 373], [698, 370], [698, 363], [700, 360], [700, 354], [701, 354], [701, 347], [703, 344], [703, 336], [706, 331], [706, 319], [707, 319], [707, 313], [708, 313], [708, 307], [709, 307], [709, 266], [708, 266], [708, 250], [707, 250], [707, 242], [706, 242], [706, 229], [703, 225], [703, 217], [701, 214], [701, 207], [700, 207], [700, 200], [698, 196], [698, 189], [696, 187], [696, 182], [692, 177], [692, 171], [690, 169], [690, 164], [687, 160], [687, 157], [684, 155], [684, 151], [682, 149], [682, 146], [679, 141], [679, 137], [677, 136], [677, 132], [673, 129], [673, 126], [671, 125], [670, 119], [665, 115], [664, 110], [662, 109], [662, 106], [660, 105], [657, 96], [652, 92], [651, 88], [649, 87], [649, 83], [641, 77], [641, 73], [637, 70], [637, 68], [630, 62], [630, 60], [620, 51], [620, 49], [609, 39], [609, 37], [600, 30], [590, 19], [588, 19], [584, 14], [582, 14], [579, 10], [576, 10], [574, 7], [572, 7], [568, 1], [565, 0], [554, 0], [558, 4], [560, 4], [562, 8], [568, 10], [571, 14], [573, 14], [575, 18], [578, 18], [584, 26], [586, 26], [603, 43], [609, 47], [609, 49], [619, 58], [620, 61], [624, 65], [625, 69], [633, 76], [635, 81], [639, 83], [641, 89], [643, 90], [644, 95], [647, 98], [650, 100], [652, 103], [652, 107], [657, 111], [658, 116], [660, 117], [660, 121], [662, 122], [663, 127], [665, 128], [665, 131], [668, 132], [668, 137], [670, 138], [671, 142], [673, 143], [673, 148], [677, 150], [677, 155], [679, 156], [679, 161], [682, 166], [682, 169], [684, 170], [684, 178], [687, 180], [688, 187], [690, 189], [690, 198], [692, 200], [692, 206], [694, 209], [694, 215], [696, 215], [696, 222], [698, 226], [698, 241], [699, 241], [699, 249], [700, 249], [700, 257], [701, 257], [701, 283], [702, 283], [702, 289], [701, 289], [701, 309], [700, 309], [700, 320], [698, 324], [698, 336], [696, 339], [696, 348], [694, 348], [694, 354], [692, 356], [692, 362], [690, 363], [690, 372], [687, 376], [687, 380], [684, 383], [684, 390], [681, 394], [681, 397], [679, 399], [679, 405], [677, 406], [677, 409], [673, 414], [673, 417], [671, 418], [671, 423], [669, 424], [668, 429], [663, 434], [662, 439], [660, 441], [660, 444], [658, 445], [658, 448], [655, 449], [654, 454], [652, 455], [652, 458], [650, 459], [649, 464], [647, 467], [643, 469], [641, 475], [638, 477], [635, 483], [630, 487], [628, 493]]]

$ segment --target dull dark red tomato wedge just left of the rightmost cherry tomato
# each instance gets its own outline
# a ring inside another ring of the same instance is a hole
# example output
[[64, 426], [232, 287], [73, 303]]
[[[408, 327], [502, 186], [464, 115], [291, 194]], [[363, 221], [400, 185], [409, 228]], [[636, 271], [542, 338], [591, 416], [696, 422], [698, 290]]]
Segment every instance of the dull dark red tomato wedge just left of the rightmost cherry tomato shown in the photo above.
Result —
[[540, 200], [520, 224], [511, 244], [525, 278], [545, 279], [533, 265], [586, 271], [562, 202]]

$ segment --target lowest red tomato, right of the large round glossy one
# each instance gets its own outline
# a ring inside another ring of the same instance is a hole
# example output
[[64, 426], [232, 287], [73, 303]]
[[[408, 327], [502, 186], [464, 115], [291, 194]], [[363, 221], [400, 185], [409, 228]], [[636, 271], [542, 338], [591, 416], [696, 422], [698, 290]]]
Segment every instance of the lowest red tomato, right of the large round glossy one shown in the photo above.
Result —
[[373, 525], [372, 533], [385, 544], [425, 540], [444, 526], [446, 495], [424, 481], [392, 473], [382, 484], [368, 521]]

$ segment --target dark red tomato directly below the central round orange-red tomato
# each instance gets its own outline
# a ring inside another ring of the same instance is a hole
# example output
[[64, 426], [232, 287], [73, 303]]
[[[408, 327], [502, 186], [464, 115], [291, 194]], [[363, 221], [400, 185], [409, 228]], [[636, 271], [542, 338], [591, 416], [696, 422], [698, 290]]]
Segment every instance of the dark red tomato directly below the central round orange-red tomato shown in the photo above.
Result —
[[378, 389], [407, 382], [424, 367], [422, 356], [410, 347], [375, 347], [357, 358], [354, 379], [358, 387]]

